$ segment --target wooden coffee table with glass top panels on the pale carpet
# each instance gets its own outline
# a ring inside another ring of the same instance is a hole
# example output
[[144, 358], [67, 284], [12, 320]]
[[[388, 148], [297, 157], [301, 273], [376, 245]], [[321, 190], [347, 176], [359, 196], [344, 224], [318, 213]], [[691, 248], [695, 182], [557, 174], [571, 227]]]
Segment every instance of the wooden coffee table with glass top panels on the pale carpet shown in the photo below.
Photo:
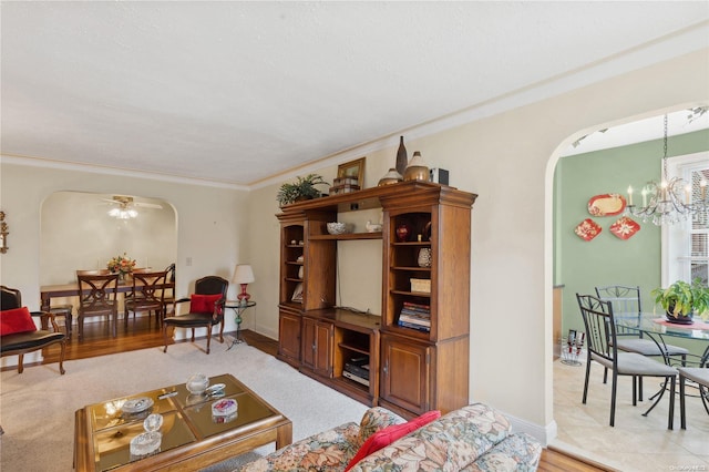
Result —
[[[191, 394], [184, 383], [165, 387], [101, 403], [75, 413], [74, 468], [78, 471], [198, 470], [256, 448], [276, 442], [276, 449], [292, 441], [292, 423], [234, 376], [212, 377], [209, 384], [224, 383], [224, 396]], [[171, 396], [172, 394], [172, 396]], [[153, 406], [127, 414], [126, 400], [147, 397]], [[236, 418], [225, 421], [212, 415], [212, 403], [222, 398], [238, 403]], [[150, 413], [163, 415], [158, 452], [136, 458], [130, 443], [144, 432]]]

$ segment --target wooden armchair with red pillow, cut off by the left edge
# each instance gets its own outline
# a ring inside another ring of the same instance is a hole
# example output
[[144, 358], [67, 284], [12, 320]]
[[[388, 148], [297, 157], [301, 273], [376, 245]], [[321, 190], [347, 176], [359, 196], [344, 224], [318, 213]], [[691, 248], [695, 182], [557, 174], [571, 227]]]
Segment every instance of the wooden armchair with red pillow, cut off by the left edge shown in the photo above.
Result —
[[[66, 355], [66, 336], [60, 331], [54, 315], [44, 311], [30, 311], [22, 307], [20, 290], [0, 286], [0, 357], [18, 356], [18, 373], [24, 370], [23, 361], [27, 352], [44, 349], [54, 343], [61, 347], [59, 371], [64, 374], [64, 356]], [[51, 322], [53, 331], [37, 329], [32, 316], [42, 318], [42, 324]]]

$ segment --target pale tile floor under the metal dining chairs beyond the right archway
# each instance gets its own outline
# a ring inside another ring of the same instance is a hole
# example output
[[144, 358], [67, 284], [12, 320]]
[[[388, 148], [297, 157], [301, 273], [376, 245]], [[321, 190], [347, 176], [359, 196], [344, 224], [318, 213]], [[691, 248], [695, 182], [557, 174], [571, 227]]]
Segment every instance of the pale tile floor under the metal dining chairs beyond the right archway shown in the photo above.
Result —
[[677, 397], [670, 431], [669, 392], [649, 415], [641, 414], [651, 404], [648, 397], [659, 389], [659, 380], [645, 379], [645, 401], [633, 407], [633, 379], [620, 377], [615, 428], [610, 428], [610, 381], [603, 383], [603, 368], [594, 362], [588, 401], [583, 404], [585, 371], [585, 362], [577, 367], [554, 362], [557, 438], [552, 445], [620, 471], [709, 471], [709, 414], [699, 398], [687, 399], [687, 429], [681, 430]]

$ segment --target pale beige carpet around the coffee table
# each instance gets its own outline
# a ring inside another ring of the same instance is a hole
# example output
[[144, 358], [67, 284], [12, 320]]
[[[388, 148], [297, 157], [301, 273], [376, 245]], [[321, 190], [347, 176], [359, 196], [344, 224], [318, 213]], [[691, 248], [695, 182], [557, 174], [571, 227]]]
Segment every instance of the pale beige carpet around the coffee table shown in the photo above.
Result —
[[[1, 374], [0, 469], [71, 471], [74, 412], [85, 404], [182, 383], [195, 372], [232, 373], [292, 421], [294, 441], [347, 421], [361, 419], [367, 407], [299, 373], [258, 349], [226, 343], [205, 355], [191, 343], [151, 348], [121, 355], [37, 366]], [[257, 450], [268, 453], [274, 445]], [[254, 454], [246, 459], [253, 460]], [[229, 471], [245, 461], [233, 459], [210, 466]]]

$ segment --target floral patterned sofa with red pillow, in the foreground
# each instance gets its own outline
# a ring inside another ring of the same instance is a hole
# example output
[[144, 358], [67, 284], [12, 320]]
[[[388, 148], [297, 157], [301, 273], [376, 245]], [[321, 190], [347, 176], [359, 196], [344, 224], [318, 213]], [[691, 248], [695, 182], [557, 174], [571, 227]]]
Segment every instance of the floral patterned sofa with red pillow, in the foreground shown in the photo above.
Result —
[[542, 454], [542, 445], [528, 434], [513, 433], [504, 415], [483, 403], [474, 403], [429, 422], [350, 464], [370, 437], [403, 423], [401, 417], [389, 410], [370, 408], [359, 424], [346, 423], [297, 441], [238, 470], [534, 471]]

